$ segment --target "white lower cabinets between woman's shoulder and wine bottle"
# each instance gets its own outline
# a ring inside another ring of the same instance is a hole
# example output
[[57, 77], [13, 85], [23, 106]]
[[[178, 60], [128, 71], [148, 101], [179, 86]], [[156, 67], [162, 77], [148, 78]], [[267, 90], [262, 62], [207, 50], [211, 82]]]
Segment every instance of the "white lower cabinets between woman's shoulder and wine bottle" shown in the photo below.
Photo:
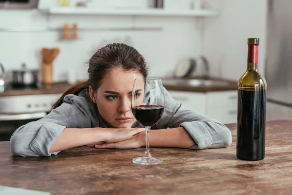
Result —
[[169, 91], [172, 98], [185, 107], [218, 119], [222, 123], [237, 122], [237, 90], [219, 92]]

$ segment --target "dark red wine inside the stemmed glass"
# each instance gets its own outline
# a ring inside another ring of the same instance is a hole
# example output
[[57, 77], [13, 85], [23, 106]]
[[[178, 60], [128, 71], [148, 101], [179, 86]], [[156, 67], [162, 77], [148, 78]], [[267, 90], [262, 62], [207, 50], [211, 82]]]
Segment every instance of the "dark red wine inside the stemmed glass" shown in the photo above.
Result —
[[147, 127], [155, 125], [162, 117], [164, 107], [161, 105], [140, 105], [132, 108], [137, 121]]

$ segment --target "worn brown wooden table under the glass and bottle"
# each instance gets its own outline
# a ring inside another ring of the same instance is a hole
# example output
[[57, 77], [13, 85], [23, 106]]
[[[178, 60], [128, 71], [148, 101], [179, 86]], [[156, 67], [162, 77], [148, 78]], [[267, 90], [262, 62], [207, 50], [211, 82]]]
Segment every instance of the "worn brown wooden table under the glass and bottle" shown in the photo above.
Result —
[[292, 120], [267, 122], [266, 157], [261, 161], [236, 158], [236, 124], [228, 127], [230, 147], [151, 148], [153, 156], [163, 159], [154, 166], [131, 162], [144, 148], [78, 147], [52, 157], [18, 157], [12, 156], [9, 142], [0, 142], [0, 185], [52, 195], [291, 195]]

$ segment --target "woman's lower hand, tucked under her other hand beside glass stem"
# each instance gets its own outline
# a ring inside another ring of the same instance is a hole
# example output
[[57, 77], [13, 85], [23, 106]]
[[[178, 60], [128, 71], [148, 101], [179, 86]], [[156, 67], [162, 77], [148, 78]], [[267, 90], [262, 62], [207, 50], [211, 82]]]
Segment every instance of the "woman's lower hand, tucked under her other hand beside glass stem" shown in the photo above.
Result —
[[[144, 128], [139, 129], [145, 130]], [[141, 148], [142, 146], [145, 146], [145, 139], [146, 132], [143, 131], [124, 141], [119, 141], [115, 143], [95, 144], [95, 148], [117, 148], [117, 149]]]

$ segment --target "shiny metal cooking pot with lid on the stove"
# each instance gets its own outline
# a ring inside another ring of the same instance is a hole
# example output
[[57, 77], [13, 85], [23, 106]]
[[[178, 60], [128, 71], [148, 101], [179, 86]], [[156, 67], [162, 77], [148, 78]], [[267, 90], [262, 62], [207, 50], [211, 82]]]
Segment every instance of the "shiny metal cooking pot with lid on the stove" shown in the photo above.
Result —
[[12, 85], [14, 87], [37, 86], [38, 70], [27, 69], [25, 64], [21, 64], [20, 70], [12, 71]]

